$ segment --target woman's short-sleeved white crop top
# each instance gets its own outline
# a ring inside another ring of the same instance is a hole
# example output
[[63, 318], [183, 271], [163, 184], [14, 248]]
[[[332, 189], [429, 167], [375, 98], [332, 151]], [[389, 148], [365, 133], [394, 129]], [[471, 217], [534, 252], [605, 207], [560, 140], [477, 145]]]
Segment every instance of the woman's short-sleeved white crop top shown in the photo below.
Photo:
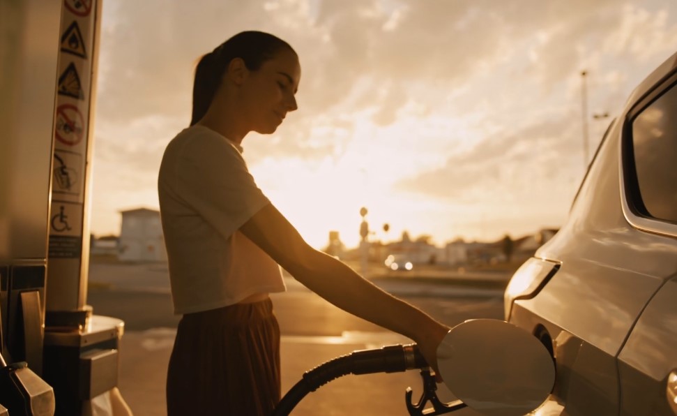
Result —
[[169, 142], [158, 176], [174, 313], [286, 290], [280, 267], [238, 229], [270, 203], [241, 148], [204, 126]]

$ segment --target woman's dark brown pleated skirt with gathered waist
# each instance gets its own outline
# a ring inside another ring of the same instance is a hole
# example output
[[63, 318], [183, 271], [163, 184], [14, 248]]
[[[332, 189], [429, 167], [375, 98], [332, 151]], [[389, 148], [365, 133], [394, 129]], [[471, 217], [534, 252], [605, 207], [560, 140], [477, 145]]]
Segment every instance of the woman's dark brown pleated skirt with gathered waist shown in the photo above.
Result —
[[280, 401], [271, 299], [183, 315], [167, 371], [167, 415], [270, 415]]

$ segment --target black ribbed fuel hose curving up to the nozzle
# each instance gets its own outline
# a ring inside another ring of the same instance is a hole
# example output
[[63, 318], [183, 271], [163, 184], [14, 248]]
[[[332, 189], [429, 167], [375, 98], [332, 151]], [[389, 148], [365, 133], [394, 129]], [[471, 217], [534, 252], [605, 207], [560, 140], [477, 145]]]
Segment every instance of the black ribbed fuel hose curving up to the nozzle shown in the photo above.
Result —
[[347, 374], [397, 373], [428, 366], [416, 344], [358, 350], [342, 355], [303, 374], [273, 410], [273, 416], [289, 415], [299, 401], [322, 385]]

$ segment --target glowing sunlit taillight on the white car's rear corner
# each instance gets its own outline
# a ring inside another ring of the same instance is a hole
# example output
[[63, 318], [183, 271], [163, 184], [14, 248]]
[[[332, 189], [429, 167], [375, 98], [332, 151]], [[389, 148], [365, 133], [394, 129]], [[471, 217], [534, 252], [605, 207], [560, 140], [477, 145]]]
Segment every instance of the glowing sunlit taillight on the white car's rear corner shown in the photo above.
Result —
[[534, 297], [545, 283], [557, 272], [559, 263], [540, 258], [530, 258], [517, 269], [510, 278], [508, 287], [503, 294], [503, 307], [505, 308], [505, 320], [510, 320], [512, 303], [517, 299], [529, 299]]

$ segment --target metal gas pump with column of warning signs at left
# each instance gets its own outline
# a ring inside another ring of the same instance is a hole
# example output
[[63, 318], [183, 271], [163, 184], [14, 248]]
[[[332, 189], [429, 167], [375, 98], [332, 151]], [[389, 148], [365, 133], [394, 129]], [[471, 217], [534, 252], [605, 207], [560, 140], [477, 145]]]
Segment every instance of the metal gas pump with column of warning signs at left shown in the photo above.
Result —
[[100, 0], [0, 0], [0, 416], [130, 414], [86, 305]]

